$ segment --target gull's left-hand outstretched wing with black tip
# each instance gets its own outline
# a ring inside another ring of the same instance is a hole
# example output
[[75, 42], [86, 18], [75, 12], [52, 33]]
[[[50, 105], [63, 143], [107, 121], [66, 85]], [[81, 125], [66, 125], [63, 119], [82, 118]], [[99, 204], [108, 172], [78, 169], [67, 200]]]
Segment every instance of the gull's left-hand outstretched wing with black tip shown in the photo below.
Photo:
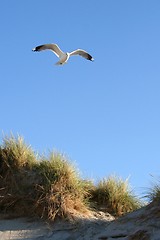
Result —
[[51, 50], [56, 54], [57, 57], [61, 57], [64, 54], [64, 52], [62, 52], [58, 45], [53, 43], [40, 45], [32, 49], [32, 51], [34, 52], [39, 52], [43, 50]]

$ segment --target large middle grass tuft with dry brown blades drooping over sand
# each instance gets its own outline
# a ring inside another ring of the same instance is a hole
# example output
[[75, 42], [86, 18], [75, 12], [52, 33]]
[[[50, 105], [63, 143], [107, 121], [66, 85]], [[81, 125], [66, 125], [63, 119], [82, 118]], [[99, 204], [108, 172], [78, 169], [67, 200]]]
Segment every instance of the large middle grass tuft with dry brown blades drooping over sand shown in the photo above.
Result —
[[40, 161], [39, 174], [42, 183], [37, 185], [41, 192], [37, 207], [47, 214], [47, 218], [71, 218], [75, 211], [87, 212], [85, 197], [88, 193], [83, 181], [63, 155], [51, 153], [48, 160]]

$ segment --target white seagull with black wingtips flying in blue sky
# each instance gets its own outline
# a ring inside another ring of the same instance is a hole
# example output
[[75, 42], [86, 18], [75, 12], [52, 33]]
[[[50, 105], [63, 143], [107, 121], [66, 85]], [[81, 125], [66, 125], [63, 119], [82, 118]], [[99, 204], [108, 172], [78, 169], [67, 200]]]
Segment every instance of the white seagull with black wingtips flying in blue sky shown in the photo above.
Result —
[[77, 49], [73, 52], [65, 53], [54, 43], [43, 44], [32, 49], [33, 52], [40, 52], [42, 50], [51, 50], [57, 57], [59, 57], [59, 61], [55, 65], [63, 65], [64, 63], [67, 63], [69, 57], [74, 55], [80, 55], [90, 61], [94, 60], [93, 57], [83, 49]]

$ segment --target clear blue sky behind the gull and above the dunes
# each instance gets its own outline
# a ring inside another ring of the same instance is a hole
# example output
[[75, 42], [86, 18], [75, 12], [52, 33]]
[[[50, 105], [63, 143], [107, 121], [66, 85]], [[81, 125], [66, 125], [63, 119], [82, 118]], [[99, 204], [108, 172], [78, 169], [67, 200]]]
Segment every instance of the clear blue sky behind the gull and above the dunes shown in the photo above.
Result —
[[[2, 0], [0, 140], [56, 149], [84, 178], [130, 176], [143, 192], [160, 170], [160, 1]], [[51, 52], [87, 50], [55, 66]]]

